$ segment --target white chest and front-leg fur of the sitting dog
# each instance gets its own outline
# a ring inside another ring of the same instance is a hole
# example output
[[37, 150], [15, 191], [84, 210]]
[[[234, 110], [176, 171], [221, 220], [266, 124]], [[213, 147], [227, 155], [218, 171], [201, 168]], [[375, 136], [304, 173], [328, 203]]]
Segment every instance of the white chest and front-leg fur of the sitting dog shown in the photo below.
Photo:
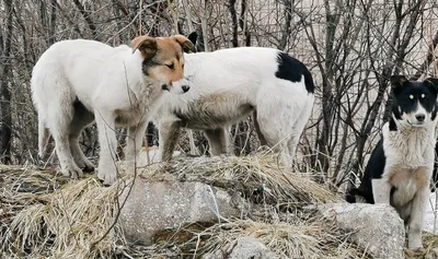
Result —
[[[435, 160], [435, 129], [437, 120], [431, 121], [430, 115], [419, 105], [413, 115], [424, 113], [426, 123], [417, 125], [415, 116], [403, 116], [396, 120], [396, 131], [389, 130], [389, 123], [383, 126], [383, 149], [387, 156], [381, 179], [372, 180], [372, 191], [376, 203], [389, 203], [397, 210], [407, 227], [410, 248], [423, 247], [422, 229], [429, 197], [429, 179]], [[390, 201], [391, 188], [396, 191]]]

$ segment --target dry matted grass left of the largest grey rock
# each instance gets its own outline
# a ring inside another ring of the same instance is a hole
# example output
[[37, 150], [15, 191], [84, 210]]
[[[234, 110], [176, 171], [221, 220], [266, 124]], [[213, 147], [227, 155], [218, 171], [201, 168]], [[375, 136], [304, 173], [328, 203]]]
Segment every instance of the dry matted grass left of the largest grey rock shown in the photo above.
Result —
[[67, 181], [54, 170], [30, 167], [3, 167], [1, 181], [4, 252], [30, 258], [95, 258], [110, 252], [117, 228], [100, 238], [113, 223], [122, 185], [105, 188], [95, 177]]

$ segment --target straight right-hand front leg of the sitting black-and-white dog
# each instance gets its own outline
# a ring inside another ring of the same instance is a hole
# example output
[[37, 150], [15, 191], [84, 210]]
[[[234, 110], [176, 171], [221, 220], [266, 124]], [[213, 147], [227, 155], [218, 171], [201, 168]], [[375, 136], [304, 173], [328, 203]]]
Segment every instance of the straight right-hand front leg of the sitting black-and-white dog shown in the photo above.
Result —
[[418, 190], [412, 200], [412, 211], [407, 229], [407, 247], [411, 249], [423, 248], [422, 231], [427, 202], [430, 195], [429, 179], [431, 175], [431, 168], [420, 167], [416, 170], [416, 175]]

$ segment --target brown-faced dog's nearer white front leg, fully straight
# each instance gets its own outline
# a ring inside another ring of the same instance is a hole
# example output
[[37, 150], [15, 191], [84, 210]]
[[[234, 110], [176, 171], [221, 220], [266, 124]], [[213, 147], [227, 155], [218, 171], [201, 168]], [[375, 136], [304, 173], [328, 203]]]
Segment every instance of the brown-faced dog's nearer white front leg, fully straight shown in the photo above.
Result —
[[101, 146], [97, 176], [104, 185], [112, 185], [117, 178], [115, 116], [107, 110], [95, 110], [94, 114]]

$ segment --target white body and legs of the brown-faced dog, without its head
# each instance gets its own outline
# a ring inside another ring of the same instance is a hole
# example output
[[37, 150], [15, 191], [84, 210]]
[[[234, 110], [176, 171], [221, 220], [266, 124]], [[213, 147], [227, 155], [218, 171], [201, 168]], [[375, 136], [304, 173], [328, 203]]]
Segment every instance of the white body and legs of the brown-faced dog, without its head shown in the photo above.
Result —
[[[78, 138], [93, 121], [99, 130], [99, 177], [104, 184], [116, 179], [116, 126], [128, 127], [127, 160], [141, 146], [150, 115], [160, 104], [166, 79], [151, 80], [141, 71], [139, 50], [111, 47], [84, 39], [64, 40], [49, 47], [32, 74], [33, 101], [38, 111], [39, 155], [44, 154], [48, 130], [56, 143], [61, 170], [80, 177], [80, 167], [92, 167], [79, 148]], [[172, 87], [183, 93], [181, 87]], [[74, 113], [78, 98], [88, 110]], [[136, 149], [134, 149], [136, 146]]]

